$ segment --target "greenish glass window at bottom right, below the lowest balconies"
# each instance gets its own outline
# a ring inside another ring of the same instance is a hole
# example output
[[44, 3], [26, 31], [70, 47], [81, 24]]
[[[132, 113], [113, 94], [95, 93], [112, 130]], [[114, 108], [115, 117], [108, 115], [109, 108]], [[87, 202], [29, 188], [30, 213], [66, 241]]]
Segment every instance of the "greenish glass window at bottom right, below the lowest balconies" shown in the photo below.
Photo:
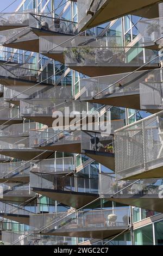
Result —
[[135, 245], [153, 245], [152, 224], [134, 230]]

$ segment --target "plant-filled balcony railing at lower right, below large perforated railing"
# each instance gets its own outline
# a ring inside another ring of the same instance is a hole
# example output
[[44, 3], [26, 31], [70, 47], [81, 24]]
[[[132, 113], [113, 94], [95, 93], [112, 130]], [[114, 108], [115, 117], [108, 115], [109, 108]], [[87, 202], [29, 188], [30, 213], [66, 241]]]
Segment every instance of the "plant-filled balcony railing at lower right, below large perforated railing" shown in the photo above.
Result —
[[[115, 176], [99, 174], [99, 194], [110, 198], [115, 193], [115, 198], [159, 198], [162, 190], [162, 179], [145, 179], [133, 181], [117, 180]], [[118, 192], [118, 193], [117, 193]]]

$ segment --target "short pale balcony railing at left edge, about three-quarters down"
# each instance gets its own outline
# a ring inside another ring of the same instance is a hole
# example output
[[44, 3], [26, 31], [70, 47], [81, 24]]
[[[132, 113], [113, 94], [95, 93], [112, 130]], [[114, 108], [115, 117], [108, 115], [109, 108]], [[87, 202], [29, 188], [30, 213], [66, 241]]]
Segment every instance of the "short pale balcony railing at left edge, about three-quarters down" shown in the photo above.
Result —
[[1, 200], [5, 200], [8, 197], [34, 197], [35, 193], [29, 190], [29, 184], [22, 183], [5, 183], [0, 184]]

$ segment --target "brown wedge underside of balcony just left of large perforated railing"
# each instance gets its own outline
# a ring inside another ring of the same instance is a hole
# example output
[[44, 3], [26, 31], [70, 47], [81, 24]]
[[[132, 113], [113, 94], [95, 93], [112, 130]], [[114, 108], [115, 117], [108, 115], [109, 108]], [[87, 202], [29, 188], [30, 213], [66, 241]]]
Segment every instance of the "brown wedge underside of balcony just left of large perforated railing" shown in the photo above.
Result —
[[103, 166], [115, 170], [115, 157], [111, 153], [96, 152], [92, 150], [85, 150], [85, 154], [91, 159], [98, 163], [103, 164]]

